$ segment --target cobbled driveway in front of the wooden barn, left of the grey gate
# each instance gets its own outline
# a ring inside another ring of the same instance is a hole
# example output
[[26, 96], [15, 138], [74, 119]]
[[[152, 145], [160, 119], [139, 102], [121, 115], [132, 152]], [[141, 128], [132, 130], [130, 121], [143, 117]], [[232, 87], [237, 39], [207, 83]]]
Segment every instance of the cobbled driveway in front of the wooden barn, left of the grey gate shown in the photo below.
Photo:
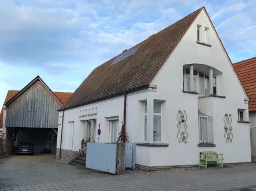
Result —
[[54, 155], [11, 156], [0, 159], [0, 189], [109, 176], [55, 161]]

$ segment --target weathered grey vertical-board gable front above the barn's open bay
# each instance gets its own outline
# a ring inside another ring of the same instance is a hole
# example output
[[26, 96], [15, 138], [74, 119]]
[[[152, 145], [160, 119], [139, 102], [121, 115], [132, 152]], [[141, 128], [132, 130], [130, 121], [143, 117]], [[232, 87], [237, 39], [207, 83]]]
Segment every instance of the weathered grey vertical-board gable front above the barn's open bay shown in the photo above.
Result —
[[37, 81], [6, 108], [6, 127], [58, 128], [61, 102]]

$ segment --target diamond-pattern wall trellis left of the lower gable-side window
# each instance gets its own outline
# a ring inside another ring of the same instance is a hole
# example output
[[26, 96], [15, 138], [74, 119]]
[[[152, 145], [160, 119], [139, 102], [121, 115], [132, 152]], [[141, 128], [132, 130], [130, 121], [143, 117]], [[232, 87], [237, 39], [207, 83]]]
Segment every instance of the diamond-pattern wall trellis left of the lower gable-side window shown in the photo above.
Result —
[[187, 119], [188, 116], [185, 113], [185, 110], [179, 110], [178, 114], [177, 114], [177, 120], [178, 120], [178, 124], [177, 124], [177, 128], [178, 128], [178, 132], [177, 132], [177, 138], [179, 139], [179, 143], [184, 142], [187, 143], [187, 138], [188, 138], [188, 132], [187, 132]]

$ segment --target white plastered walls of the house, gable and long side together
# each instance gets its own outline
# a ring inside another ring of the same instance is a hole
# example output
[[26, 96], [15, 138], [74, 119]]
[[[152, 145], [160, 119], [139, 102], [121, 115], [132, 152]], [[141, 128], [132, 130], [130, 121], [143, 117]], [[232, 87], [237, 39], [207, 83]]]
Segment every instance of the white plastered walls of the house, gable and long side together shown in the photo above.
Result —
[[[197, 25], [209, 28], [212, 47], [196, 43]], [[226, 98], [207, 97], [200, 99], [198, 108], [198, 95], [183, 93], [183, 67], [185, 64], [205, 64], [216, 68], [222, 74], [217, 78], [217, 93]], [[224, 49], [221, 47], [213, 28], [204, 12], [196, 18], [194, 24], [184, 35], [179, 45], [151, 82], [157, 85], [157, 91], [146, 91], [127, 97], [127, 132], [129, 142], [144, 142], [144, 111], [142, 100], [147, 100], [147, 143], [153, 143], [153, 101], [162, 102], [162, 129], [161, 142], [169, 144], [168, 147], [136, 146], [136, 164], [144, 166], [175, 166], [197, 165], [199, 152], [216, 151], [224, 153], [224, 162], [251, 162], [250, 125], [238, 123], [238, 108], [246, 109], [245, 119], [248, 120], [248, 104], [244, 104], [244, 93]], [[118, 116], [119, 129], [123, 121], [124, 97], [98, 102], [92, 105], [81, 106], [65, 111], [64, 129], [69, 121], [75, 121], [74, 137], [80, 137], [80, 120], [90, 117], [79, 117], [80, 110], [97, 108], [97, 128], [101, 124], [101, 135], [97, 133], [95, 142], [109, 142], [109, 127], [106, 117]], [[213, 117], [213, 138], [216, 147], [198, 147], [199, 126], [198, 109]], [[187, 113], [188, 139], [187, 143], [177, 138], [177, 113], [185, 110]], [[224, 138], [224, 116], [232, 114], [233, 141], [226, 143]], [[61, 125], [59, 125], [58, 132]], [[95, 131], [97, 131], [97, 128]], [[65, 132], [65, 130], [64, 130]], [[65, 134], [65, 133], [64, 133]], [[58, 133], [60, 136], [60, 133]], [[64, 135], [65, 137], [66, 135]], [[81, 138], [81, 137], [80, 137]], [[57, 148], [60, 148], [58, 137]], [[67, 136], [68, 139], [68, 136]], [[75, 138], [75, 147], [62, 143], [62, 149], [77, 150], [80, 147], [80, 139]]]

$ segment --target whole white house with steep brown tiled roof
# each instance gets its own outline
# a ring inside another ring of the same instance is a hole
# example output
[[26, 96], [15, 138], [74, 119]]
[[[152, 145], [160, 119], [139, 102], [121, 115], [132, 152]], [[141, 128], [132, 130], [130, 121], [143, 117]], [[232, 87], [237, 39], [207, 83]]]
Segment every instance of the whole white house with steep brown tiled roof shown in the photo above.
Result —
[[250, 125], [237, 120], [241, 109], [248, 121], [248, 98], [205, 7], [91, 72], [60, 109], [61, 156], [82, 139], [116, 142], [124, 93], [136, 168], [198, 165], [201, 151], [251, 162]]

